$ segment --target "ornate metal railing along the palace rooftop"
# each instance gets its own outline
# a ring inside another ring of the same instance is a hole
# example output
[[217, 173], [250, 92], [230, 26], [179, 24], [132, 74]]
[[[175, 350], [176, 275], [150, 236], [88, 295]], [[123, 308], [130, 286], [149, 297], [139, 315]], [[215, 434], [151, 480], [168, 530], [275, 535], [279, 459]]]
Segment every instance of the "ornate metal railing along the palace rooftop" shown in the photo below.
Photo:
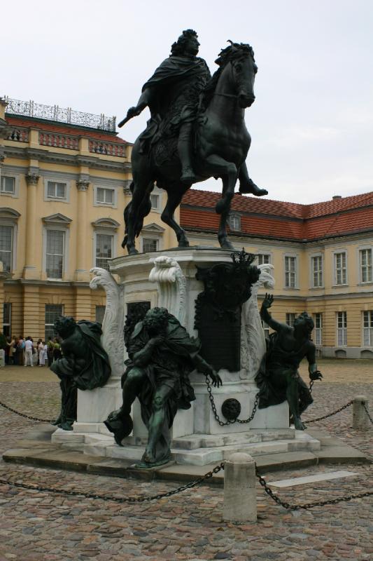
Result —
[[43, 105], [34, 101], [12, 100], [5, 97], [8, 104], [6, 113], [10, 115], [24, 115], [34, 117], [36, 119], [45, 119], [47, 121], [57, 121], [57, 123], [67, 123], [69, 125], [78, 125], [88, 128], [96, 128], [99, 130], [108, 130], [115, 133], [115, 116], [106, 117], [104, 114], [93, 115], [92, 113], [83, 113], [82, 111], [73, 111], [71, 107], [66, 109], [58, 107], [58, 105]]

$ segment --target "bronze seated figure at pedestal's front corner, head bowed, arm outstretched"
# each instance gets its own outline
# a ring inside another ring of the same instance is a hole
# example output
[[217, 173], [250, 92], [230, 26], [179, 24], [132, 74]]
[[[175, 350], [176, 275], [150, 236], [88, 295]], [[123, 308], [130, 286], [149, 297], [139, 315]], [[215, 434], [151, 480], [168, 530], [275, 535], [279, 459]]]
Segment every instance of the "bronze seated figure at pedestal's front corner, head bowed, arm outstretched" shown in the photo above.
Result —
[[221, 379], [199, 356], [199, 341], [165, 308], [153, 308], [132, 329], [125, 328], [129, 355], [122, 377], [123, 403], [105, 424], [115, 442], [131, 433], [131, 406], [139, 398], [141, 417], [148, 428], [148, 443], [139, 467], [160, 466], [170, 459], [170, 431], [178, 409], [189, 409], [195, 393], [189, 373], [195, 368], [209, 375], [214, 386]]

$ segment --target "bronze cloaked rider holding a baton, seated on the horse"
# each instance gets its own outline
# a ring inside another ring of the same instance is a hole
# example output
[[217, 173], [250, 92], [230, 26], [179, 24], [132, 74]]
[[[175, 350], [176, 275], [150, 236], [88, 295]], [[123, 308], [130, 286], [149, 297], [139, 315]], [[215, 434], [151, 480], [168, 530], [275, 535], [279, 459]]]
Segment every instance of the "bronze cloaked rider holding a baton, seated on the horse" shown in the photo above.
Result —
[[[136, 107], [130, 107], [119, 126], [150, 109], [150, 120], [140, 135], [142, 153], [150, 153], [157, 141], [177, 137], [178, 156], [181, 161], [181, 182], [192, 184], [197, 180], [193, 170], [192, 127], [197, 119], [199, 101], [211, 79], [209, 67], [203, 58], [197, 57], [199, 42], [197, 33], [186, 29], [178, 41], [171, 46], [171, 55], [158, 67], [153, 76], [143, 85]], [[157, 160], [162, 154], [156, 155]], [[166, 156], [167, 158], [167, 156]], [[248, 177], [246, 163], [239, 170], [239, 192], [255, 196], [267, 194]]]

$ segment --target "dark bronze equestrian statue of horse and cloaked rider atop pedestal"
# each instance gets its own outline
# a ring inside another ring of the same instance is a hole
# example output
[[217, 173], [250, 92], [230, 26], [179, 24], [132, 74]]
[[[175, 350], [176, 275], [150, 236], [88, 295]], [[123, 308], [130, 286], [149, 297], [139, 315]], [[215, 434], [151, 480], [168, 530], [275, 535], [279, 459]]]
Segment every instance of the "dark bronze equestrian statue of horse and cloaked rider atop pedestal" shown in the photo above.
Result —
[[218, 70], [209, 72], [197, 57], [199, 42], [192, 29], [183, 31], [171, 46], [171, 55], [143, 85], [129, 119], [149, 107], [150, 120], [132, 149], [132, 201], [125, 208], [125, 238], [122, 247], [137, 253], [135, 238], [151, 208], [150, 193], [155, 182], [167, 191], [162, 220], [176, 234], [178, 247], [188, 247], [185, 231], [174, 219], [174, 211], [192, 184], [209, 177], [223, 181], [222, 198], [216, 204], [220, 215], [218, 240], [224, 249], [234, 250], [227, 238], [227, 217], [239, 179], [239, 192], [267, 195], [248, 176], [246, 156], [251, 137], [246, 128], [246, 107], [255, 100], [253, 86], [258, 67], [253, 49], [233, 43], [220, 51]]

